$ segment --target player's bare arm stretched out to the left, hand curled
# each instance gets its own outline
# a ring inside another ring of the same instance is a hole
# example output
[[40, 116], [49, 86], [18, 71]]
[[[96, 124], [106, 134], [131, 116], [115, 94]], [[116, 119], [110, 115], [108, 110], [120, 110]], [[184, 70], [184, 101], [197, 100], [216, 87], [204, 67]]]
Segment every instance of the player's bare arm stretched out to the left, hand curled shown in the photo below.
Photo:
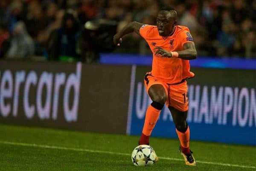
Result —
[[121, 31], [117, 32], [116, 35], [114, 35], [113, 41], [115, 45], [120, 46], [120, 43], [122, 43], [122, 36], [127, 35], [131, 32], [135, 32], [138, 35], [140, 35], [140, 27], [143, 26], [143, 23], [138, 23], [136, 21], [128, 23], [124, 28], [122, 28]]

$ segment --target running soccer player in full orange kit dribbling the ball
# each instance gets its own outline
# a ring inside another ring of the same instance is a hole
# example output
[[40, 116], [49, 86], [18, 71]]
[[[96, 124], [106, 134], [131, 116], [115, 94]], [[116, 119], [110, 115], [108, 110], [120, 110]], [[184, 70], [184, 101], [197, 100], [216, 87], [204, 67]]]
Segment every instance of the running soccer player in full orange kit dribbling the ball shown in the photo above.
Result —
[[187, 78], [194, 77], [190, 72], [189, 60], [195, 59], [197, 51], [193, 38], [186, 26], [177, 25], [177, 12], [172, 7], [163, 7], [157, 15], [157, 26], [138, 22], [127, 24], [114, 35], [117, 46], [122, 43], [122, 36], [136, 32], [147, 41], [152, 53], [151, 72], [145, 75], [145, 87], [153, 101], [148, 106], [139, 144], [149, 145], [149, 136], [157, 123], [160, 111], [166, 104], [172, 113], [176, 132], [180, 140], [179, 151], [186, 165], [196, 165], [189, 149], [189, 126], [186, 122], [188, 113]]

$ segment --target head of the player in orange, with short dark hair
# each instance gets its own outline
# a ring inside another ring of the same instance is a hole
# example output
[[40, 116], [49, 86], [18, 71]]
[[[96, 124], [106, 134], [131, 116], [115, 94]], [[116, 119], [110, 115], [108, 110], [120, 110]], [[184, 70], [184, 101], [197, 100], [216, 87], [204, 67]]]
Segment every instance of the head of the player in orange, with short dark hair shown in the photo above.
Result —
[[159, 35], [170, 35], [177, 24], [176, 18], [177, 12], [174, 8], [169, 6], [161, 8], [157, 14], [157, 29]]

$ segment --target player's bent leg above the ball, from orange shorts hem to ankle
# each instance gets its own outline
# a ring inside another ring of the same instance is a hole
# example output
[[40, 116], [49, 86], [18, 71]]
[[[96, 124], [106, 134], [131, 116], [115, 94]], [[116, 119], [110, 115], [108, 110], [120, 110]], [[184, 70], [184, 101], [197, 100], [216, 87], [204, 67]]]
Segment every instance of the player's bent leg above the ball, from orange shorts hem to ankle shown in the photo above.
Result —
[[143, 131], [139, 140], [140, 145], [149, 144], [149, 136], [167, 99], [167, 91], [164, 88], [164, 84], [151, 75], [147, 75], [145, 76], [145, 87], [147, 88], [148, 96], [153, 102], [146, 111]]

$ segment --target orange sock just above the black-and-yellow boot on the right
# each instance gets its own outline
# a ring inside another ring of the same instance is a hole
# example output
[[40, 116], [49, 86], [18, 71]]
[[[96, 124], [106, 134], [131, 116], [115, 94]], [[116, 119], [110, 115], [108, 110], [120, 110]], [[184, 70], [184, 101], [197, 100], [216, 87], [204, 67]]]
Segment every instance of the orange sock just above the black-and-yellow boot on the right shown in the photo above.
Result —
[[176, 132], [177, 132], [177, 135], [179, 137], [179, 140], [180, 140], [180, 145], [181, 145], [181, 150], [184, 154], [188, 154], [190, 151], [189, 151], [189, 135], [190, 135], [190, 132], [189, 132], [189, 125], [188, 125], [188, 128], [186, 130], [186, 132], [182, 133], [180, 131], [178, 131], [176, 129]]

